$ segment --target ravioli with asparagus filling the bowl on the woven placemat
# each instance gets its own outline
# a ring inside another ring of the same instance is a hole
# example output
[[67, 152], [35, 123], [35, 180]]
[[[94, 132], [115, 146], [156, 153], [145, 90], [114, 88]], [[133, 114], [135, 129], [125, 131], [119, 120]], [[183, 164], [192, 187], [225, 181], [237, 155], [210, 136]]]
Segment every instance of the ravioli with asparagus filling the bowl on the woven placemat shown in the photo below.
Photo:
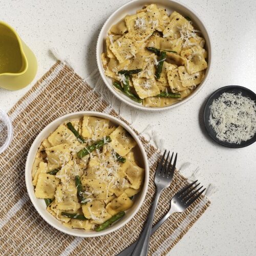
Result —
[[60, 124], [36, 153], [35, 196], [45, 199], [48, 214], [66, 227], [107, 228], [132, 207], [143, 185], [136, 145], [122, 126], [104, 118]]

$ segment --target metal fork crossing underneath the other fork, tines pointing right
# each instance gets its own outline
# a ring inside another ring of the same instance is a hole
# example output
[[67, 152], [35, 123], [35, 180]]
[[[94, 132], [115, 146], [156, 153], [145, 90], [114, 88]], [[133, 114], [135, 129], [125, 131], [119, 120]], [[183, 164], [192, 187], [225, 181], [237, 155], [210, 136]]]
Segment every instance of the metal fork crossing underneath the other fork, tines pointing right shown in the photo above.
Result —
[[[170, 208], [168, 212], [159, 222], [156, 223], [156, 225], [152, 227], [150, 234], [151, 236], [174, 212], [184, 211], [188, 206], [193, 204], [203, 194], [205, 188], [201, 191], [200, 189], [203, 186], [196, 189], [200, 185], [200, 183], [196, 184], [196, 182], [197, 180], [187, 185], [186, 187], [178, 191], [177, 194], [175, 194], [175, 196], [170, 200]], [[129, 247], [121, 251], [117, 256], [130, 256], [136, 244], [137, 241], [135, 241]]]

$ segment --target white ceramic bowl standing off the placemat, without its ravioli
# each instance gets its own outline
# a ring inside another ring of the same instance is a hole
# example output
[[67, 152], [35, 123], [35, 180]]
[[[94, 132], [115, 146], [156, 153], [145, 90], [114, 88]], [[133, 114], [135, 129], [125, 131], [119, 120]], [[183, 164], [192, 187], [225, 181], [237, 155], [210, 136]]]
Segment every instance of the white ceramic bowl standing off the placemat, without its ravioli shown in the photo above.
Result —
[[[126, 97], [123, 95], [121, 92], [117, 91], [113, 86], [112, 86], [112, 79], [107, 77], [104, 74], [104, 68], [101, 62], [101, 53], [104, 52], [104, 41], [106, 36], [108, 35], [108, 31], [112, 27], [112, 25], [118, 23], [126, 14], [135, 14], [137, 10], [141, 9], [145, 4], [157, 4], [159, 7], [163, 7], [167, 10], [167, 13], [170, 14], [173, 11], [177, 11], [181, 13], [183, 16], [189, 16], [191, 20], [193, 20], [193, 24], [197, 27], [202, 32], [203, 37], [205, 38], [205, 49], [208, 51], [208, 68], [206, 70], [205, 77], [203, 81], [201, 82], [200, 86], [198, 86], [193, 93], [191, 93], [188, 97], [185, 99], [178, 101], [174, 103], [173, 105], [170, 106], [165, 106], [165, 107], [158, 107], [158, 108], [151, 108], [148, 106], [143, 106], [140, 103], [137, 103], [130, 98]], [[186, 7], [184, 4], [181, 4], [176, 1], [171, 1], [171, 0], [133, 0], [131, 2], [128, 2], [127, 4], [123, 5], [120, 7], [118, 10], [116, 10], [105, 22], [103, 25], [98, 41], [97, 41], [97, 49], [96, 49], [96, 58], [97, 58], [97, 64], [98, 64], [98, 69], [100, 72], [100, 75], [105, 82], [106, 86], [110, 89], [110, 91], [121, 101], [125, 102], [126, 104], [133, 106], [134, 108], [140, 109], [140, 110], [147, 110], [147, 111], [160, 111], [160, 110], [168, 110], [175, 108], [176, 106], [179, 106], [185, 102], [187, 102], [189, 99], [194, 97], [199, 90], [204, 86], [208, 76], [209, 76], [209, 71], [211, 69], [211, 63], [212, 63], [212, 49], [211, 49], [211, 39], [209, 36], [209, 33], [203, 24], [202, 20], [199, 18], [199, 16]]]

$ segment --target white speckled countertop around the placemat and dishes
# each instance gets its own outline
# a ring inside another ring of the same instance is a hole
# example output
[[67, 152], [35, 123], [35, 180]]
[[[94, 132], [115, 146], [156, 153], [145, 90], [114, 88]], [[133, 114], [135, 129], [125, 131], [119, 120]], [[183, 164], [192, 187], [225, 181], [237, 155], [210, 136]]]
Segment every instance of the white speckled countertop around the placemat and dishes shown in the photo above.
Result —
[[[36, 79], [55, 60], [49, 48], [68, 57], [86, 78], [95, 68], [96, 40], [105, 19], [127, 0], [7, 1], [0, 2], [0, 18], [13, 26], [38, 60]], [[139, 112], [134, 123], [142, 131], [154, 124], [165, 145], [179, 155], [179, 166], [200, 167], [200, 181], [219, 191], [199, 221], [173, 248], [172, 255], [255, 255], [256, 250], [256, 143], [241, 149], [219, 146], [205, 134], [202, 108], [216, 89], [231, 84], [256, 91], [256, 3], [190, 0], [209, 29], [214, 63], [203, 89], [186, 104], [163, 113]], [[35, 79], [35, 80], [36, 80]], [[33, 83], [32, 83], [33, 84]], [[20, 91], [0, 90], [0, 108], [8, 111], [32, 86]], [[127, 108], [129, 118], [130, 110]]]

